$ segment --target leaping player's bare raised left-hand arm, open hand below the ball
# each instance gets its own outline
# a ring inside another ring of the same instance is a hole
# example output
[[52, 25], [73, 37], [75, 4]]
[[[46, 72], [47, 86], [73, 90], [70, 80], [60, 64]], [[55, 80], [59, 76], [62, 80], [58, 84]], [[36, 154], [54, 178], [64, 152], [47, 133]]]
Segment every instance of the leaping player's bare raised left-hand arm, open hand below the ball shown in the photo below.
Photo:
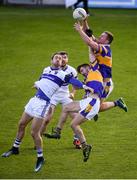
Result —
[[74, 28], [76, 31], [79, 32], [81, 38], [88, 46], [90, 46], [94, 50], [98, 51], [98, 48], [99, 48], [98, 44], [96, 42], [94, 42], [92, 40], [92, 38], [87, 36], [87, 34], [83, 31], [82, 26], [80, 26], [80, 23], [75, 23]]

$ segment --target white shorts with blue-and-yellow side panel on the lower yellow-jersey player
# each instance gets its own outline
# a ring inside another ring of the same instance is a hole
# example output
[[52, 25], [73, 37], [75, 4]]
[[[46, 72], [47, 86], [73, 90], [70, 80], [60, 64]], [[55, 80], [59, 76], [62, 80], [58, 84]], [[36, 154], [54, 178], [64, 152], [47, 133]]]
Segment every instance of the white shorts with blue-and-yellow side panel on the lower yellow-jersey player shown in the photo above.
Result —
[[95, 99], [92, 97], [87, 97], [80, 101], [80, 111], [79, 113], [86, 119], [91, 120], [96, 114], [98, 114], [100, 109], [100, 99]]

